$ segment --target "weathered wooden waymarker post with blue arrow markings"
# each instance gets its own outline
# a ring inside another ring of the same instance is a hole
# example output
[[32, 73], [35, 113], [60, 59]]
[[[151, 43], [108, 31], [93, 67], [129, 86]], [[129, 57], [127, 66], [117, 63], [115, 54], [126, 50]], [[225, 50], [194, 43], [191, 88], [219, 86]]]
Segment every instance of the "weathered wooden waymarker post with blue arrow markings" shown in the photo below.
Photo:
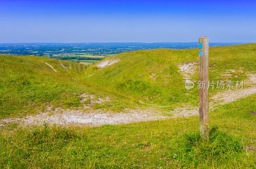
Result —
[[199, 38], [199, 123], [204, 141], [209, 138], [209, 39]]

